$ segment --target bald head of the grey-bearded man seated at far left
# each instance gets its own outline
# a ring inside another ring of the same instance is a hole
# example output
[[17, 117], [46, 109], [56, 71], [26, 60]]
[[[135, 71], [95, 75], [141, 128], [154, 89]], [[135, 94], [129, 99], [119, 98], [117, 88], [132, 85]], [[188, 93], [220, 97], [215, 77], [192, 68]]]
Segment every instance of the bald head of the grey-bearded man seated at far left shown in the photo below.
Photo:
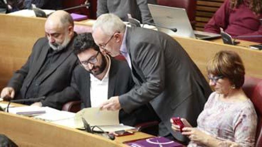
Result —
[[46, 20], [45, 32], [51, 48], [61, 50], [74, 36], [73, 18], [66, 11], [55, 11]]

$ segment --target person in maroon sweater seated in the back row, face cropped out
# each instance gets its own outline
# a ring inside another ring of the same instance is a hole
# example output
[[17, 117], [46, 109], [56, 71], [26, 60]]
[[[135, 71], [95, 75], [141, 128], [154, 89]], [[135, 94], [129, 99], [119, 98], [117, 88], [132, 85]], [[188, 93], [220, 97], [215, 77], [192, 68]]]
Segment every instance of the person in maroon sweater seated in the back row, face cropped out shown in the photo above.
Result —
[[225, 0], [205, 25], [204, 30], [219, 34], [222, 28], [233, 38], [262, 43], [260, 19], [262, 19], [261, 0]]

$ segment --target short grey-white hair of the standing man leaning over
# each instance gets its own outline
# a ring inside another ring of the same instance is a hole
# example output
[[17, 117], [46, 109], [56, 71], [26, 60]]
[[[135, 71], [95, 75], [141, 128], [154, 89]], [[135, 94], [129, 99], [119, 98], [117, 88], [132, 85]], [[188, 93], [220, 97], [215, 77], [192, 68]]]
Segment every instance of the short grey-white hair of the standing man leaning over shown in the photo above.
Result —
[[117, 31], [124, 33], [126, 25], [118, 16], [109, 13], [102, 14], [97, 18], [93, 24], [92, 31], [95, 31], [97, 28], [101, 28], [106, 35], [110, 36]]

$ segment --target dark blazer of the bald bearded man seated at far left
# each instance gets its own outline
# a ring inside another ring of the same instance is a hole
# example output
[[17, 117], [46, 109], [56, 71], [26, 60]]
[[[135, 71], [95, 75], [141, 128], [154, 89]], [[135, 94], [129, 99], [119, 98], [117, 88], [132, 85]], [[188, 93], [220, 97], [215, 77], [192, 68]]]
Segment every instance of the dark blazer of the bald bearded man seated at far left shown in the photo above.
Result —
[[[52, 63], [48, 71], [45, 72], [44, 78], [38, 85], [35, 85], [38, 88], [37, 96], [46, 96], [46, 99], [41, 101], [43, 106], [61, 109], [68, 97], [77, 97], [73, 91], [64, 90], [70, 86], [72, 73], [77, 65], [72, 42], [73, 39], [68, 44], [67, 50], [63, 51], [57, 61]], [[49, 48], [48, 39], [38, 39], [26, 63], [14, 73], [7, 86], [15, 89], [15, 99], [25, 98], [28, 87], [45, 61]]]

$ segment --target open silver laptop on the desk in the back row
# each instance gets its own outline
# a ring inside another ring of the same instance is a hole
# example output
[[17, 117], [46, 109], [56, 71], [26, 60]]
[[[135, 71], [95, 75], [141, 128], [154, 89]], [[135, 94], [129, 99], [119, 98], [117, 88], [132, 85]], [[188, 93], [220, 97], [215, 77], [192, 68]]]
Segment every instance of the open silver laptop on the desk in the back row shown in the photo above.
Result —
[[[148, 4], [157, 29], [170, 36], [182, 36], [196, 39], [214, 39], [220, 34], [214, 34], [203, 31], [194, 31], [188, 19], [186, 10], [177, 7], [167, 7], [154, 4]], [[161, 26], [161, 27], [160, 27]], [[170, 28], [170, 29], [166, 29]], [[176, 32], [171, 29], [177, 29]]]

